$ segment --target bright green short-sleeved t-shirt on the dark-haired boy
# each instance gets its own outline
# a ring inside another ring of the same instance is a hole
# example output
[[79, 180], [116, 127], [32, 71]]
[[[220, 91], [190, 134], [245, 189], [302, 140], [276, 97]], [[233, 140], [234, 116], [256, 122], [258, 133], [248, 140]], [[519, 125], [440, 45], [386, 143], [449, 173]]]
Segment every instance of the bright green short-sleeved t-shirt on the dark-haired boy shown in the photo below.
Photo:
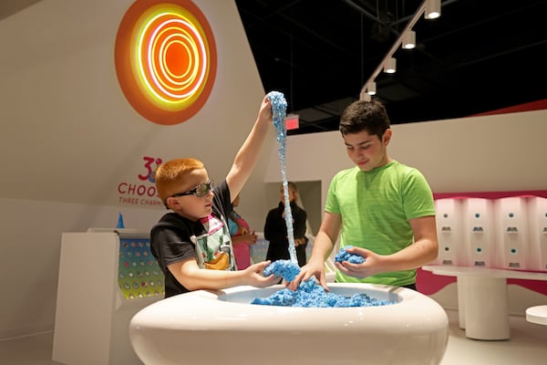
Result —
[[[408, 219], [435, 215], [435, 205], [422, 173], [392, 161], [370, 172], [354, 167], [336, 173], [326, 196], [325, 212], [342, 216], [340, 247], [354, 245], [390, 255], [412, 244]], [[406, 286], [416, 282], [416, 270], [366, 278], [338, 271], [336, 282]]]

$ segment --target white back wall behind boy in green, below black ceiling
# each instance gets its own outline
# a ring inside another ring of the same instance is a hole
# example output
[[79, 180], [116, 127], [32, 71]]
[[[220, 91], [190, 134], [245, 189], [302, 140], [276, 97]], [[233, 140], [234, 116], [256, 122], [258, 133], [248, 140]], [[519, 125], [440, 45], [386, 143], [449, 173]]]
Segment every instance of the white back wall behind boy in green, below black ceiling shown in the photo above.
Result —
[[[534, 110], [396, 124], [388, 150], [423, 172], [434, 193], [545, 190], [546, 119], [547, 110]], [[266, 182], [280, 181], [276, 153]], [[337, 130], [290, 136], [285, 153], [287, 178], [320, 181], [324, 201], [335, 172], [353, 166]]]

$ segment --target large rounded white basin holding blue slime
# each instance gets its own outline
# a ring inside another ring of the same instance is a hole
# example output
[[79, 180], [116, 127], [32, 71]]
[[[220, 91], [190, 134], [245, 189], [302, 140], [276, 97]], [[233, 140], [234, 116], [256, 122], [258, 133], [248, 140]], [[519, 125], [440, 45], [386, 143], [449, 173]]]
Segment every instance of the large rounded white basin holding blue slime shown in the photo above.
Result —
[[329, 284], [396, 304], [294, 308], [249, 304], [284, 288], [194, 291], [143, 308], [130, 322], [135, 352], [147, 365], [439, 364], [449, 339], [446, 312], [403, 287]]

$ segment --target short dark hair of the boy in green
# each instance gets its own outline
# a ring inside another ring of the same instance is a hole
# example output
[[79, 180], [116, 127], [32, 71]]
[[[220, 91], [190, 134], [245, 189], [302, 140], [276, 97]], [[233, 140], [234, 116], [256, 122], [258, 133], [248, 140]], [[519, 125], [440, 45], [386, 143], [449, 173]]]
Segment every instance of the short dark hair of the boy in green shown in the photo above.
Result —
[[377, 100], [357, 100], [351, 103], [340, 116], [338, 126], [343, 136], [366, 130], [370, 135], [376, 134], [380, 140], [389, 128], [386, 108]]

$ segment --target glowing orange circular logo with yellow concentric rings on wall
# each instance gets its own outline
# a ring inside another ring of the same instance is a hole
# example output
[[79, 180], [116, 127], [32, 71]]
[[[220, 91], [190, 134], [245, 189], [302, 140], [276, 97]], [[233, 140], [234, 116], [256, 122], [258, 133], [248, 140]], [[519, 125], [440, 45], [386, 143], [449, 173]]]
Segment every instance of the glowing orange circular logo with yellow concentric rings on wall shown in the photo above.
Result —
[[138, 0], [119, 25], [115, 63], [119, 85], [141, 116], [179, 124], [211, 94], [217, 63], [211, 26], [190, 0]]

